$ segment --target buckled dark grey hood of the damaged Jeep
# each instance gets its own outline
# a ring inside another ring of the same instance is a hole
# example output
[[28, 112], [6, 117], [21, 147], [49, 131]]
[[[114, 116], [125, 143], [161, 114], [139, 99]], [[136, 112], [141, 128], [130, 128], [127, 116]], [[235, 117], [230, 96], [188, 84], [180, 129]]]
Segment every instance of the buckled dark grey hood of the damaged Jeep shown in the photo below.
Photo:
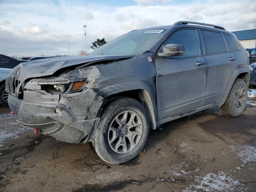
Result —
[[123, 60], [132, 57], [132, 55], [87, 55], [54, 57], [28, 61], [20, 64], [20, 81], [24, 82], [24, 80], [28, 78], [49, 76], [64, 68], [66, 68], [66, 70], [70, 70], [85, 64], [93, 64], [94, 62], [97, 63], [97, 61], [100, 62], [106, 60], [111, 62], [111, 60]]

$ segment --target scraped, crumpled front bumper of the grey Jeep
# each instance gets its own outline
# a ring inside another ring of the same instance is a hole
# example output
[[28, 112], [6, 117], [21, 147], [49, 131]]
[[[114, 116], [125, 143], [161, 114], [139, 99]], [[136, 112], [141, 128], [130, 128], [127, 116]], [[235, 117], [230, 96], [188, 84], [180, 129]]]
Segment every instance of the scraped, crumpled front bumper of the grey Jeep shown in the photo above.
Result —
[[88, 141], [100, 120], [96, 115], [102, 103], [103, 98], [92, 89], [62, 95], [25, 91], [23, 100], [11, 94], [8, 98], [19, 122], [68, 143]]

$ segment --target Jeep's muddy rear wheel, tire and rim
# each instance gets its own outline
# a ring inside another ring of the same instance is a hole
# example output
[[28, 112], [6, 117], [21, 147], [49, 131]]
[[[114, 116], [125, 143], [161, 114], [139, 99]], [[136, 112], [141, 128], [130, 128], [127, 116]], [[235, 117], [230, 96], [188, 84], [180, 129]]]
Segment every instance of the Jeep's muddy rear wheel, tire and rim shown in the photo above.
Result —
[[240, 116], [246, 107], [248, 86], [244, 79], [236, 79], [228, 98], [220, 108], [227, 116]]

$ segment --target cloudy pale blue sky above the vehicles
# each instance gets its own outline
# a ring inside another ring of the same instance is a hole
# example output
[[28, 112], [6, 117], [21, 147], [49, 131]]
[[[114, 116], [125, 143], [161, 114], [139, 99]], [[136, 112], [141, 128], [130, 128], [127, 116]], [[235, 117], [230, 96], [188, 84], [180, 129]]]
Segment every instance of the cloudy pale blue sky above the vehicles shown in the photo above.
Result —
[[255, 0], [0, 0], [0, 8], [0, 54], [8, 56], [68, 54], [68, 43], [78, 55], [97, 38], [179, 20], [256, 28]]

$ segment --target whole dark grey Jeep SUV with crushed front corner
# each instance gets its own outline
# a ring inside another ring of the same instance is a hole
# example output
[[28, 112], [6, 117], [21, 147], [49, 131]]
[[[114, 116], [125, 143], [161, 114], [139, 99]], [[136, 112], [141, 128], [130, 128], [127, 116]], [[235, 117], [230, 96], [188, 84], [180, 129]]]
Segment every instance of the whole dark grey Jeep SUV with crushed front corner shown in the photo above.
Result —
[[142, 151], [150, 128], [214, 106], [242, 114], [249, 72], [234, 34], [180, 21], [128, 32], [88, 56], [22, 63], [6, 91], [36, 133], [91, 142], [102, 160], [120, 164]]

